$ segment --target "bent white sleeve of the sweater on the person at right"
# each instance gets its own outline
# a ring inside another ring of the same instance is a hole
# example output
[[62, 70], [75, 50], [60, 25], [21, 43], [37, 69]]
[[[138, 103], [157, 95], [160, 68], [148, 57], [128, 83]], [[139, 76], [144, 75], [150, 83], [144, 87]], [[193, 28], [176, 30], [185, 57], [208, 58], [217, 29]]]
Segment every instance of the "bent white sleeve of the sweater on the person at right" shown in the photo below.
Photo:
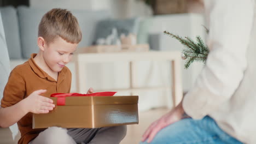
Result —
[[247, 68], [253, 23], [252, 0], [206, 0], [210, 49], [205, 67], [183, 99], [184, 111], [201, 119], [231, 98]]

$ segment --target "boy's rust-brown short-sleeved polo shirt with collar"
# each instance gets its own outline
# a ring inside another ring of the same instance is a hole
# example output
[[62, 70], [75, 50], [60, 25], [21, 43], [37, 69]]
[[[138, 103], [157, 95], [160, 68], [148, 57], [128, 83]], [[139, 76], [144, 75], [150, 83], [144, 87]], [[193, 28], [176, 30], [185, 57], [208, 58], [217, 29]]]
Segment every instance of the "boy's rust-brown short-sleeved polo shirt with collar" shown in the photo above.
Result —
[[[52, 93], [69, 93], [71, 88], [71, 71], [64, 67], [59, 72], [57, 81], [55, 81], [34, 62], [36, 55], [36, 53], [33, 53], [27, 62], [18, 65], [11, 71], [7, 85], [4, 88], [1, 107], [15, 105], [38, 89], [47, 89], [46, 93], [41, 94], [44, 97], [50, 97]], [[19, 144], [27, 144], [44, 130], [32, 129], [31, 112], [20, 119], [18, 126], [21, 133]]]

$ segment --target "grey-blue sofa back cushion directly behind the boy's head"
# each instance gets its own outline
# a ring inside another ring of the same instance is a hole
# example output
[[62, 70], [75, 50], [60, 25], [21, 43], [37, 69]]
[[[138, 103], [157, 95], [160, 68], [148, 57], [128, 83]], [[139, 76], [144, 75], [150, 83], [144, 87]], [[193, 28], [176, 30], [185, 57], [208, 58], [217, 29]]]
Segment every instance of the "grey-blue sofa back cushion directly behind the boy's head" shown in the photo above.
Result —
[[[18, 7], [20, 22], [21, 49], [25, 58], [30, 58], [31, 53], [38, 52], [37, 34], [38, 25], [43, 15], [50, 9]], [[77, 17], [83, 38], [78, 47], [91, 45], [94, 38], [95, 28], [98, 21], [109, 17], [106, 11], [71, 10]]]

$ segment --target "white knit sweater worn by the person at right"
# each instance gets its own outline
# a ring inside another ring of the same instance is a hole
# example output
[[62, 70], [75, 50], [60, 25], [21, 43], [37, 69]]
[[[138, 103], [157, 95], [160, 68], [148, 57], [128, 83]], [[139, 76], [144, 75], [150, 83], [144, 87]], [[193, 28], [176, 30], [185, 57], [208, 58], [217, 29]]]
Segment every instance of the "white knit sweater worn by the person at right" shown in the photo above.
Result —
[[210, 48], [183, 107], [211, 116], [226, 133], [256, 143], [256, 19], [253, 0], [206, 0]]

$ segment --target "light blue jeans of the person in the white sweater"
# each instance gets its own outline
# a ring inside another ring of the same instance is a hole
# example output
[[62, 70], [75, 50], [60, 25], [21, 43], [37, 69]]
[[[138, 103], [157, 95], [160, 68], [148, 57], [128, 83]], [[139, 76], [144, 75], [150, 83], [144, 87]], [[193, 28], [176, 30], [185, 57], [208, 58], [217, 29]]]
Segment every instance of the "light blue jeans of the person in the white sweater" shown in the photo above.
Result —
[[[147, 140], [141, 142], [146, 144]], [[181, 121], [168, 125], [160, 130], [154, 137], [151, 144], [211, 144], [211, 143], [232, 143], [242, 142], [226, 134], [220, 129], [217, 123], [209, 116], [201, 120], [185, 118]]]

